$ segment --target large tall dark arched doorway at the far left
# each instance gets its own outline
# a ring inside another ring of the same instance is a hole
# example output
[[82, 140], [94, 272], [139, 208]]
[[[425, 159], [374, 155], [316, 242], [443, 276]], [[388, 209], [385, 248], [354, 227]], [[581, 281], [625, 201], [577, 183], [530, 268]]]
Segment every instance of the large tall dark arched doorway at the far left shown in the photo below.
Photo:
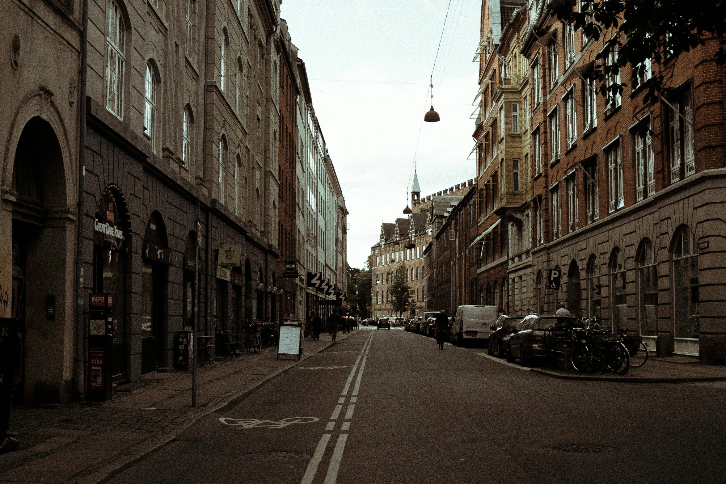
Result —
[[[16, 195], [7, 227], [12, 234], [10, 247], [3, 248], [7, 266], [0, 267], [8, 274], [2, 282], [11, 288], [3, 316], [18, 321], [12, 401], [60, 403], [70, 398], [71, 388], [64, 370], [73, 343], [65, 335], [73, 332], [67, 325], [74, 321], [65, 301], [74, 300], [75, 284], [65, 268], [73, 260], [74, 247], [66, 241], [75, 240], [75, 229], [64, 220], [65, 211], [57, 210], [68, 207], [65, 170], [60, 142], [46, 120], [28, 120], [12, 161], [9, 184]], [[46, 312], [49, 305], [52, 315]]]

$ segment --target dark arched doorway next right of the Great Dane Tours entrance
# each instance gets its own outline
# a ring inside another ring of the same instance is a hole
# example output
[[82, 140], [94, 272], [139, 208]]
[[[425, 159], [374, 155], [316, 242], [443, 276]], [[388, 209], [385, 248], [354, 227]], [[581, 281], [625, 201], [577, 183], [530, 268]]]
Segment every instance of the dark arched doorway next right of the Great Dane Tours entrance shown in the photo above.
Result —
[[171, 342], [166, 341], [166, 302], [168, 264], [171, 250], [168, 249], [166, 227], [158, 212], [152, 212], [144, 231], [144, 252], [142, 261], [142, 316], [141, 316], [141, 371], [153, 372], [158, 366], [165, 366], [166, 352]]

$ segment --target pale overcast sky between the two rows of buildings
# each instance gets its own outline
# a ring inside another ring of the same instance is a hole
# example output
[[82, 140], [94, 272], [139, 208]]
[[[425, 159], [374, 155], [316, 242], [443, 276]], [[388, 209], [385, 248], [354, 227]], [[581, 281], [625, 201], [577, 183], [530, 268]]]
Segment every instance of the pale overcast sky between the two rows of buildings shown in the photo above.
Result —
[[[382, 222], [404, 217], [414, 162], [421, 197], [476, 176], [480, 11], [481, 0], [283, 1], [346, 199], [351, 267], [364, 266]], [[441, 121], [423, 123], [432, 69]]]

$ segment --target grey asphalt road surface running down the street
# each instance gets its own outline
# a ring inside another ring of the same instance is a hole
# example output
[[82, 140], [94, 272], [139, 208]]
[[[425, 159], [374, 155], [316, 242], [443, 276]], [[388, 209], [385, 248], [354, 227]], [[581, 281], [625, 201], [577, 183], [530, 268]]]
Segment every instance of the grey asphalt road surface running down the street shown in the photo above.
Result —
[[110, 482], [726, 482], [726, 382], [556, 380], [482, 351], [360, 331]]

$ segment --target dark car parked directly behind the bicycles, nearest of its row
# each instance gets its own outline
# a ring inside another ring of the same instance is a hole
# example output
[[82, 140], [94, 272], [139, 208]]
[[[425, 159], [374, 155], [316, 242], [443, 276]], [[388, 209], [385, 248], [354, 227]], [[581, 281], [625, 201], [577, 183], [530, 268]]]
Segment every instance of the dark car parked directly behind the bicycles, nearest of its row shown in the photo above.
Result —
[[582, 321], [574, 316], [524, 316], [518, 324], [517, 332], [507, 338], [507, 361], [517, 359], [521, 366], [542, 358], [542, 338], [548, 329], [569, 329], [582, 327]]

